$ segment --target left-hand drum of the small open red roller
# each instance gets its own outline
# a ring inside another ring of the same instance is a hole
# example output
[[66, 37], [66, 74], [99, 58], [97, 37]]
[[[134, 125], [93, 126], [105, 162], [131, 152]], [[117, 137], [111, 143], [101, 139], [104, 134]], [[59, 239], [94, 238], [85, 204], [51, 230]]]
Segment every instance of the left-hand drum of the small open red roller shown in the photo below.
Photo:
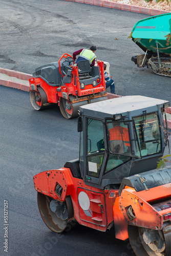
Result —
[[47, 95], [41, 87], [37, 90], [38, 92], [30, 90], [30, 102], [35, 110], [42, 110], [48, 105]]

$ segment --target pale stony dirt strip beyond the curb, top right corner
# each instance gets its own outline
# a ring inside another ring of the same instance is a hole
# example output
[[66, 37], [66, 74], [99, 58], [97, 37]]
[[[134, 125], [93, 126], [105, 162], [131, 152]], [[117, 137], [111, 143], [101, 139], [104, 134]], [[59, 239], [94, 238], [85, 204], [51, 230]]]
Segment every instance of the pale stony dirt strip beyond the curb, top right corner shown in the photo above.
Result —
[[144, 0], [111, 0], [112, 2], [117, 3], [124, 3], [128, 5], [134, 5], [134, 6], [142, 6], [157, 10], [164, 10], [164, 11], [170, 11], [171, 12], [171, 2], [168, 0], [169, 3], [167, 3], [166, 0], [160, 1], [159, 3], [156, 3], [156, 0], [153, 0], [151, 2], [145, 2]]

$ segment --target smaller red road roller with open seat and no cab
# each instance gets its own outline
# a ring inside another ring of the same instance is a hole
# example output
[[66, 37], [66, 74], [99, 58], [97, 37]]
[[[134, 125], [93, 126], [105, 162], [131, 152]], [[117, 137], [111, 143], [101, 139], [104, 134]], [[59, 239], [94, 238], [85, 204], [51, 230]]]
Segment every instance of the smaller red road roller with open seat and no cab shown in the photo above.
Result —
[[30, 78], [30, 102], [35, 110], [59, 105], [67, 118], [78, 116], [80, 105], [106, 100], [103, 61], [90, 67], [89, 60], [74, 65], [73, 57], [64, 53], [57, 62], [35, 70]]

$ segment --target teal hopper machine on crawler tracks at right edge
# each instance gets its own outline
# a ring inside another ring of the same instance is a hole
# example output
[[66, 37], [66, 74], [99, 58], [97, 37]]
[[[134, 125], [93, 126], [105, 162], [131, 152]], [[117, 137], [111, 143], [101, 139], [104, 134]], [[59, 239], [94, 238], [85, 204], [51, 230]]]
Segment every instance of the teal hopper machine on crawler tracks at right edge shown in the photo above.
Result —
[[171, 77], [171, 13], [139, 20], [132, 40], [145, 52], [132, 57], [137, 67], [152, 68], [157, 75]]

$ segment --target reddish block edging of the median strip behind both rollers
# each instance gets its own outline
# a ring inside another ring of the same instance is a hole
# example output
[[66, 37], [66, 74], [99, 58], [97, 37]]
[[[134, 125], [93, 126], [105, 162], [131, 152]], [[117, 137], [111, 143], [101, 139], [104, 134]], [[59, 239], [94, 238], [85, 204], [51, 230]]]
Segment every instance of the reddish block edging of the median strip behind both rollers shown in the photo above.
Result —
[[[9, 75], [11, 77], [16, 77], [20, 80], [27, 80], [27, 81], [29, 81], [29, 79], [33, 77], [31, 74], [26, 74], [23, 72], [10, 70], [10, 69], [4, 69], [4, 68], [0, 68], [0, 73]], [[29, 90], [30, 90], [30, 86], [28, 86], [28, 84], [14, 82], [14, 81], [6, 80], [6, 79], [0, 79], [0, 84], [2, 86], [15, 88], [15, 89], [26, 91], [26, 92], [29, 92]], [[108, 93], [108, 99], [113, 99], [113, 98], [118, 98], [118, 97], [122, 97], [122, 96]], [[171, 114], [171, 106], [169, 106], [169, 108], [166, 109], [166, 113]], [[167, 126], [168, 126], [168, 129], [171, 129], [171, 121], [170, 120], [167, 120]]]

